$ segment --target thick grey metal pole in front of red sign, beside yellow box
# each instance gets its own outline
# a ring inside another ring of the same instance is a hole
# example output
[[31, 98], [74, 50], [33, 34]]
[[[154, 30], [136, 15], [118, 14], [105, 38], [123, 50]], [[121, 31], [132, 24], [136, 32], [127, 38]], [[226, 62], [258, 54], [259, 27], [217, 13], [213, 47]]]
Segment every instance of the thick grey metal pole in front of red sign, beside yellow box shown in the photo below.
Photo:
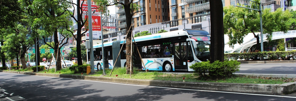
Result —
[[89, 21], [89, 43], [90, 43], [90, 65], [91, 65], [91, 73], [94, 73], [94, 46], [93, 46], [93, 36], [92, 36], [92, 18], [91, 18], [91, 0], [87, 0], [87, 8], [88, 8], [88, 21]]

